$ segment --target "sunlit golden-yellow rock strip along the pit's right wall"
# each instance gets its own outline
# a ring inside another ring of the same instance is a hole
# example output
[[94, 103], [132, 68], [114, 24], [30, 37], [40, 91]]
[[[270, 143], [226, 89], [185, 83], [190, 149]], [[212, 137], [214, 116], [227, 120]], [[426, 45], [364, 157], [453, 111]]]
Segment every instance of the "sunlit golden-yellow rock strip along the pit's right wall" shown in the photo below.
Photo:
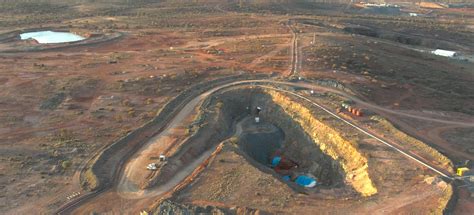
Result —
[[357, 192], [362, 196], [377, 193], [377, 188], [369, 177], [367, 158], [357, 150], [355, 144], [344, 139], [334, 128], [318, 120], [311, 110], [299, 102], [277, 91], [266, 90], [266, 93], [301, 126], [324, 154], [340, 164], [345, 172], [345, 181]]

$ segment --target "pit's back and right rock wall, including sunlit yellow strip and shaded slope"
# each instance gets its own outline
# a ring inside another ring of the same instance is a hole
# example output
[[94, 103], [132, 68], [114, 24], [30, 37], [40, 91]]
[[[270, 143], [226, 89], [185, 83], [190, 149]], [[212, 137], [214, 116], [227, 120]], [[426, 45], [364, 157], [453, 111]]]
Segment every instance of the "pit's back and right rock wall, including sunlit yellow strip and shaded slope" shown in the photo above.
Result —
[[[227, 91], [219, 99], [224, 104], [224, 112], [236, 107], [249, 106], [252, 110], [261, 106], [262, 120], [281, 128], [285, 134], [284, 155], [298, 162], [301, 170], [316, 176], [324, 185], [337, 186], [347, 182], [362, 196], [377, 192], [367, 172], [367, 159], [304, 105], [276, 91], [259, 89]], [[252, 156], [253, 149], [245, 146], [248, 142], [245, 139], [244, 136], [241, 148], [250, 157], [255, 157]]]

